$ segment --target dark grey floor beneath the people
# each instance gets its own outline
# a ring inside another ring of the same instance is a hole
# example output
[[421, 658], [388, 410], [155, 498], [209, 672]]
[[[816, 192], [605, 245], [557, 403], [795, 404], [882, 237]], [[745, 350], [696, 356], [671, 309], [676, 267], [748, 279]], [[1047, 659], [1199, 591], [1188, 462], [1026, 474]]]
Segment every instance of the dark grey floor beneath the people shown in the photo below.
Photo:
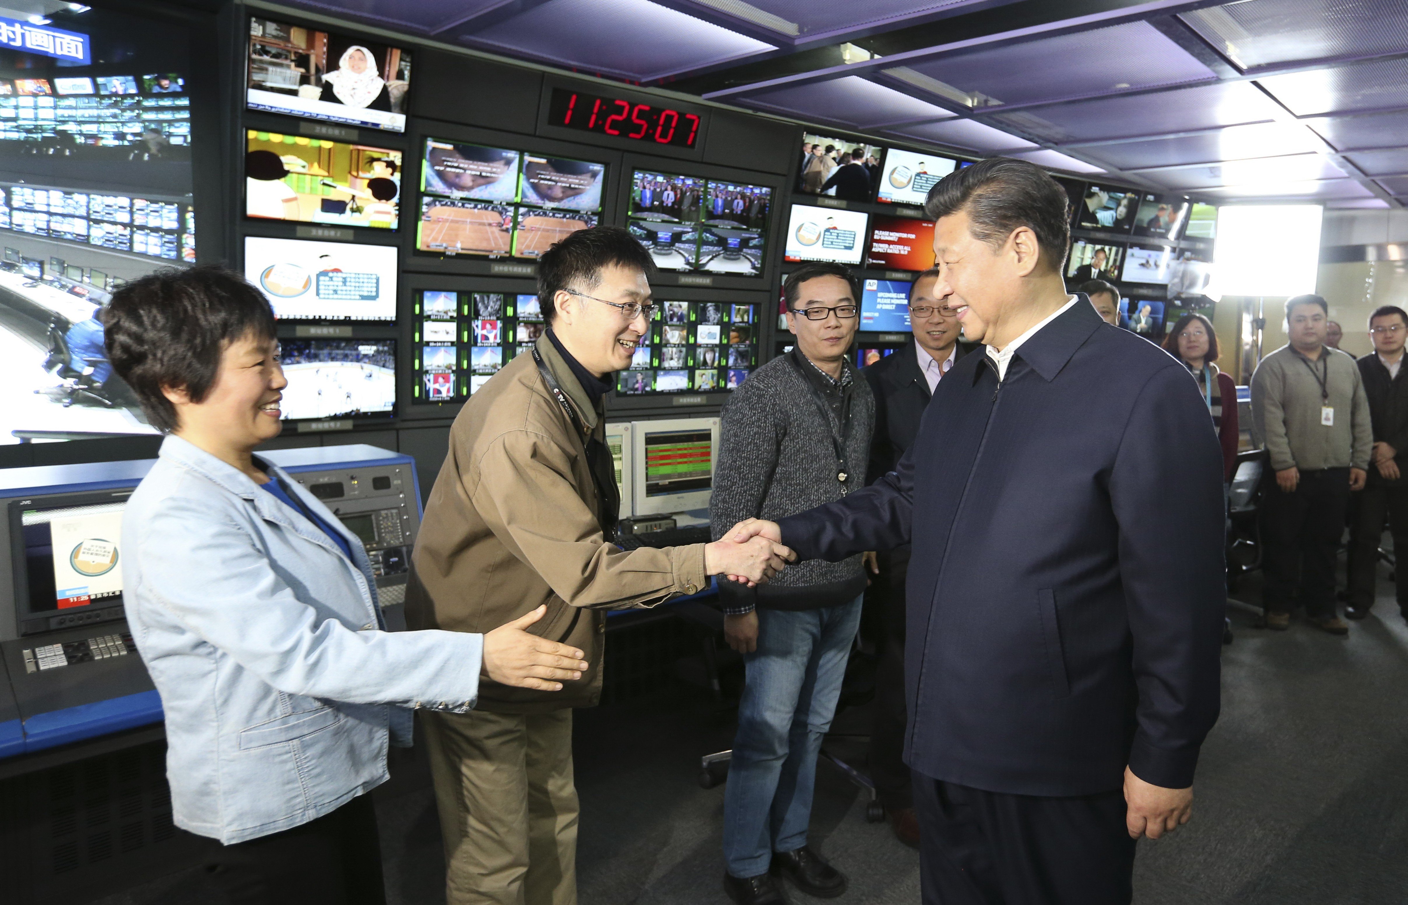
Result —
[[[1387, 583], [1385, 583], [1387, 584]], [[1385, 588], [1387, 590], [1387, 588]], [[1255, 587], [1245, 600], [1256, 600]], [[1252, 628], [1232, 604], [1222, 718], [1202, 749], [1193, 822], [1142, 842], [1146, 905], [1404, 905], [1408, 902], [1408, 624], [1391, 597], [1349, 638], [1302, 621]], [[855, 708], [842, 732], [863, 730]], [[697, 784], [698, 756], [729, 746], [732, 715], [680, 685], [649, 702], [579, 711], [583, 905], [715, 905], [722, 790]], [[857, 759], [863, 749], [839, 746]], [[442, 902], [439, 830], [422, 764], [377, 791], [389, 899]], [[812, 844], [850, 875], [842, 902], [919, 901], [918, 856], [865, 799], [818, 767]], [[814, 902], [793, 894], [796, 902]], [[144, 884], [104, 905], [214, 902], [199, 873]]]

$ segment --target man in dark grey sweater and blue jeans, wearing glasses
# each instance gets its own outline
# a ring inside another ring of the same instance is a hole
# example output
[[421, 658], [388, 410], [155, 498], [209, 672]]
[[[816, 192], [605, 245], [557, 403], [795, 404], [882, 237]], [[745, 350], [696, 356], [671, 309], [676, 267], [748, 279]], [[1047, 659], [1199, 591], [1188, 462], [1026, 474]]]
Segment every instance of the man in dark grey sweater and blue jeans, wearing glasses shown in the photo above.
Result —
[[[715, 538], [746, 518], [834, 502], [866, 483], [870, 387], [846, 360], [860, 283], [841, 265], [804, 265], [784, 287], [797, 346], [724, 405], [710, 519]], [[786, 902], [773, 875], [831, 898], [846, 878], [807, 847], [822, 736], [860, 621], [860, 557], [811, 560], [769, 586], [722, 584], [728, 643], [748, 681], [724, 798], [724, 888], [745, 905]]]

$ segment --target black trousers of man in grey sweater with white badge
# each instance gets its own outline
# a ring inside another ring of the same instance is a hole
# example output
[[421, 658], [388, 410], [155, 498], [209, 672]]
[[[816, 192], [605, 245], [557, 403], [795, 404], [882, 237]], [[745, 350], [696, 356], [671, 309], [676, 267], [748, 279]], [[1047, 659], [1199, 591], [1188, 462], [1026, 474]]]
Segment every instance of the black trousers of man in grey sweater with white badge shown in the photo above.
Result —
[[1349, 469], [1301, 472], [1300, 486], [1291, 493], [1276, 484], [1276, 472], [1267, 470], [1266, 481], [1262, 605], [1267, 612], [1290, 612], [1298, 597], [1312, 619], [1333, 616], [1335, 560], [1345, 533]]

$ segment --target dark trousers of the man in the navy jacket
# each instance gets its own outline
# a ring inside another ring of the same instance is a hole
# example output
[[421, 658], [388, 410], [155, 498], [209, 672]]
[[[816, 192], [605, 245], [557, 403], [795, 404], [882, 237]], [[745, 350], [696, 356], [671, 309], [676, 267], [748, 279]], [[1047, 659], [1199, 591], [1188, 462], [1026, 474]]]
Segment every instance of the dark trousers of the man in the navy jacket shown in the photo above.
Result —
[[1122, 790], [984, 792], [914, 774], [924, 905], [1128, 905], [1135, 840]]

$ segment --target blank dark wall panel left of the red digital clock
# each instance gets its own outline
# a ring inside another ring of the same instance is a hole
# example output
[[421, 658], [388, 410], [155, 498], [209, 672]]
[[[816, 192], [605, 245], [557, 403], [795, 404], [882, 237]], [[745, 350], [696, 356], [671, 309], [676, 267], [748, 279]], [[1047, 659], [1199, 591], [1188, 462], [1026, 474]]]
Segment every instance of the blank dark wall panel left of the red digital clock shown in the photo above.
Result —
[[542, 73], [482, 59], [415, 51], [411, 115], [532, 135]]

